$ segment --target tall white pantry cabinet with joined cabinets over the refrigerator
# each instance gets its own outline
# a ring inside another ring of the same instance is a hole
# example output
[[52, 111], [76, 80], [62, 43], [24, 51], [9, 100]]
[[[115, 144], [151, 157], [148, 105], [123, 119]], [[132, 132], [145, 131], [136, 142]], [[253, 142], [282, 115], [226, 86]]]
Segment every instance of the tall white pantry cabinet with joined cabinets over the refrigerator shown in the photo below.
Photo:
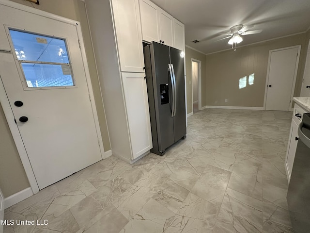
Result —
[[85, 0], [85, 6], [111, 150], [133, 163], [153, 147], [142, 40], [185, 51], [184, 25], [149, 0]]

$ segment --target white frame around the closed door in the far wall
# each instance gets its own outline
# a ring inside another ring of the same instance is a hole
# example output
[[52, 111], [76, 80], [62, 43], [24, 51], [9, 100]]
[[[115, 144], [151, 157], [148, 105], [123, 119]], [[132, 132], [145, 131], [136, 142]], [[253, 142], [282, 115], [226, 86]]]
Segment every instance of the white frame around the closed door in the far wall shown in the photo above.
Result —
[[299, 65], [299, 58], [300, 58], [300, 50], [301, 50], [301, 45], [294, 45], [290, 47], [285, 47], [285, 48], [280, 48], [276, 50], [269, 50], [269, 56], [268, 56], [268, 67], [267, 67], [267, 74], [266, 74], [266, 83], [265, 83], [265, 95], [264, 95], [264, 100], [263, 100], [263, 110], [266, 110], [266, 102], [267, 102], [267, 91], [268, 91], [268, 82], [269, 82], [269, 71], [270, 71], [270, 62], [271, 62], [271, 53], [272, 52], [277, 52], [281, 50], [289, 50], [289, 49], [294, 49], [298, 48], [297, 52], [297, 60], [296, 60], [296, 65], [295, 65], [295, 71], [294, 71], [294, 79], [293, 79], [293, 84], [292, 84], [292, 89], [291, 89], [291, 102], [290, 102], [290, 108], [289, 111], [293, 111], [292, 108], [292, 102], [293, 102], [293, 97], [294, 97], [294, 90], [295, 90], [295, 85], [296, 85], [296, 77], [297, 77], [297, 71], [298, 71], [298, 65]]

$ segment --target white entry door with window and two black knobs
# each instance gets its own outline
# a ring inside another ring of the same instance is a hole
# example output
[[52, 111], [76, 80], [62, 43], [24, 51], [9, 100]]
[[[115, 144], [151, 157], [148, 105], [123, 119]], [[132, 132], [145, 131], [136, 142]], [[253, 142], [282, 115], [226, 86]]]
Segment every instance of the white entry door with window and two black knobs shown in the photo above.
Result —
[[0, 78], [42, 189], [101, 160], [77, 26], [3, 5], [0, 22]]

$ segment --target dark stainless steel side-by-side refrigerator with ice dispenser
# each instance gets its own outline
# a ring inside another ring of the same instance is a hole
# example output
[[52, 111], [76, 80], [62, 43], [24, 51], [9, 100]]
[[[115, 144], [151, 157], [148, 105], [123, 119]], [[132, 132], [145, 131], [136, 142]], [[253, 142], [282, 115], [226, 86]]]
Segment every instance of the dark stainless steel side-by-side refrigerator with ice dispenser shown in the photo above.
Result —
[[184, 52], [152, 42], [144, 47], [153, 149], [164, 155], [186, 138]]

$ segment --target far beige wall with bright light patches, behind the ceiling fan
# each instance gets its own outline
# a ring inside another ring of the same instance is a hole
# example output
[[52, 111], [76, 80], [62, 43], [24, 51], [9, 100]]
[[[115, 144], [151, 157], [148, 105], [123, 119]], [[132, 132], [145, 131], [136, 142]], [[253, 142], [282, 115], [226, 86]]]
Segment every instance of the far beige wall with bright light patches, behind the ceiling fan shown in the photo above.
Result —
[[[294, 96], [300, 93], [306, 33], [206, 55], [206, 105], [263, 107], [269, 50], [301, 45]], [[187, 55], [187, 54], [186, 54]], [[254, 84], [239, 89], [239, 79], [254, 73]], [[228, 99], [228, 102], [225, 102]]]

